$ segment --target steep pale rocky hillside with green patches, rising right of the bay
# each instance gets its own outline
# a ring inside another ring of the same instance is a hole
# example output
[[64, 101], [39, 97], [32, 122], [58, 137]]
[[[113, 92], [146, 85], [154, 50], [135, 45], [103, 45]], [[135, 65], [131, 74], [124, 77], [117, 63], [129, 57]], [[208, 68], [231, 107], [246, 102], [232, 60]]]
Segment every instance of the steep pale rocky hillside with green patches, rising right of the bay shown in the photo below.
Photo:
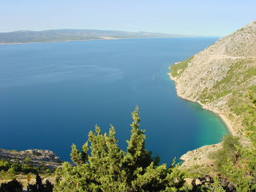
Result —
[[[186, 61], [170, 66], [178, 96], [217, 112], [242, 138], [256, 125], [256, 20]], [[246, 130], [246, 131], [244, 131]]]

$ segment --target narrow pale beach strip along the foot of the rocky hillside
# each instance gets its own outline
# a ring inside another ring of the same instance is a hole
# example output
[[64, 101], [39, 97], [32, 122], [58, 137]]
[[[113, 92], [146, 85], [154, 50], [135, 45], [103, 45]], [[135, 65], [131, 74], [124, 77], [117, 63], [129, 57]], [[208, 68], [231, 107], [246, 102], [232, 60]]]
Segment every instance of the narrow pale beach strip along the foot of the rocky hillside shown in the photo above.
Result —
[[[179, 63], [179, 62], [177, 62], [177, 63], [175, 63], [175, 64], [178, 64], [178, 63]], [[170, 80], [173, 80], [173, 81], [176, 83], [176, 78], [173, 77], [173, 76], [170, 74], [170, 72], [167, 73], [167, 74], [169, 75]], [[196, 102], [197, 104], [200, 104], [200, 106], [201, 106], [204, 110], [209, 110], [209, 111], [214, 112], [215, 114], [217, 114], [217, 115], [219, 116], [219, 118], [221, 118], [221, 120], [223, 121], [223, 123], [225, 123], [225, 126], [227, 127], [227, 131], [228, 131], [230, 134], [232, 134], [233, 136], [236, 135], [236, 132], [234, 131], [233, 126], [232, 126], [230, 120], [229, 120], [225, 115], [223, 115], [223, 114], [220, 113], [219, 111], [211, 110], [211, 109], [206, 108], [206, 106], [205, 106], [204, 104], [200, 103], [200, 101], [194, 101], [194, 100], [189, 99], [189, 98], [187, 98], [187, 97], [181, 96], [181, 94], [179, 94], [179, 93], [177, 92], [177, 88], [176, 88], [176, 94], [177, 94], [177, 96], [181, 97], [181, 99], [185, 99], [185, 100], [187, 100], [187, 101]]]

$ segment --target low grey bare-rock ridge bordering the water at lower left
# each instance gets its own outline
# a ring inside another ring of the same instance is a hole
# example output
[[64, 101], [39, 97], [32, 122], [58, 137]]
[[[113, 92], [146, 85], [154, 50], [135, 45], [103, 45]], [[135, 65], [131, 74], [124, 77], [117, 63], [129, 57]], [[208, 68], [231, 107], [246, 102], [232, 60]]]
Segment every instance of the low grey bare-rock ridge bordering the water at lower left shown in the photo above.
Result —
[[61, 166], [61, 160], [55, 153], [50, 150], [4, 150], [0, 149], [0, 159], [11, 162], [23, 163], [29, 161], [29, 164], [35, 166], [47, 166], [48, 168], [56, 168]]

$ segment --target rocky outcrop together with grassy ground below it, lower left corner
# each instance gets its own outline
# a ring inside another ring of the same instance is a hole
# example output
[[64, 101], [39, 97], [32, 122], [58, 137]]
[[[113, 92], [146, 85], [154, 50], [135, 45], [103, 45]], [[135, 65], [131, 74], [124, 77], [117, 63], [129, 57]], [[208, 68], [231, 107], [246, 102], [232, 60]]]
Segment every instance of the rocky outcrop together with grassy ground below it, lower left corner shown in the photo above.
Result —
[[[4, 150], [0, 149], [0, 191], [2, 183], [18, 179], [25, 189], [28, 183], [36, 183], [36, 174], [40, 174], [43, 183], [53, 183], [54, 172], [62, 161], [50, 150]], [[28, 181], [28, 175], [31, 177]]]

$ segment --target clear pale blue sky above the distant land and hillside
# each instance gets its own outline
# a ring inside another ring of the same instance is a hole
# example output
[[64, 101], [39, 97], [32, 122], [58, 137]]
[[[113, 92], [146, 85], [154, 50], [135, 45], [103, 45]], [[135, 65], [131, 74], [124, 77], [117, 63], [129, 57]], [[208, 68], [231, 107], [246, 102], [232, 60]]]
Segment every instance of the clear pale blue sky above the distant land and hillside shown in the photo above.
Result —
[[0, 32], [56, 28], [224, 36], [256, 19], [255, 0], [3, 0]]

